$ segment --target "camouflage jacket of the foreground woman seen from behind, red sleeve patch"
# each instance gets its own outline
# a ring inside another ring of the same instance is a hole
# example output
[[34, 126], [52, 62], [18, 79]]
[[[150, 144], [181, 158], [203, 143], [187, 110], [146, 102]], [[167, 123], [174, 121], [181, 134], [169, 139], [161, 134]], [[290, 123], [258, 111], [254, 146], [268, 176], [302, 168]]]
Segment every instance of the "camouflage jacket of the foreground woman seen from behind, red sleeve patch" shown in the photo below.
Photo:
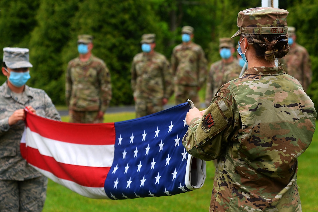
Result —
[[183, 137], [194, 157], [218, 158], [210, 211], [301, 211], [297, 158], [316, 115], [282, 67], [252, 67], [222, 86]]

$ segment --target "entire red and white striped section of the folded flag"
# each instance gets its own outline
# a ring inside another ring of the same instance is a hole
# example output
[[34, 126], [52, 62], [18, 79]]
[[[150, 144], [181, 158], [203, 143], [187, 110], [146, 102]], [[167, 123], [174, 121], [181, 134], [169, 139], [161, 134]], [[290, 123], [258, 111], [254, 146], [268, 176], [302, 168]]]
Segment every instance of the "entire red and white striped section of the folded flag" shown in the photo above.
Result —
[[72, 124], [31, 113], [26, 119], [20, 149], [30, 165], [78, 194], [108, 198], [104, 182], [114, 159], [114, 123]]

